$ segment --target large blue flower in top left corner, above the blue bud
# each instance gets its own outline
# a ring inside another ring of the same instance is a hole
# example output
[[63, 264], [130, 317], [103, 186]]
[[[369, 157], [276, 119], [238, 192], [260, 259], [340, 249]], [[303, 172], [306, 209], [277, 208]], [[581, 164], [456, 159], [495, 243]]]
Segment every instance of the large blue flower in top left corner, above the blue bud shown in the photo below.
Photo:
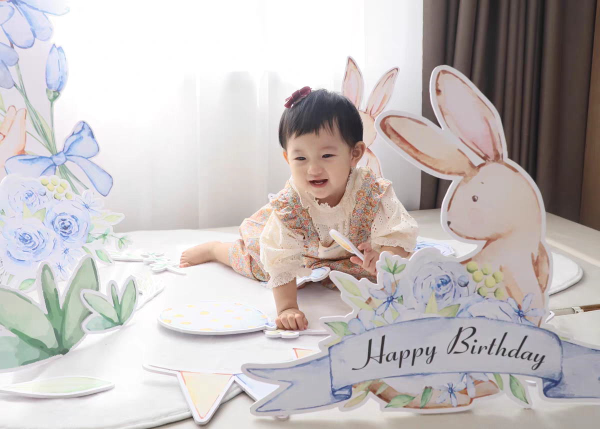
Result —
[[8, 0], [13, 10], [10, 17], [2, 23], [4, 34], [15, 46], [28, 48], [34, 46], [35, 39], [50, 40], [52, 23], [46, 16], [64, 15], [69, 11], [63, 0]]

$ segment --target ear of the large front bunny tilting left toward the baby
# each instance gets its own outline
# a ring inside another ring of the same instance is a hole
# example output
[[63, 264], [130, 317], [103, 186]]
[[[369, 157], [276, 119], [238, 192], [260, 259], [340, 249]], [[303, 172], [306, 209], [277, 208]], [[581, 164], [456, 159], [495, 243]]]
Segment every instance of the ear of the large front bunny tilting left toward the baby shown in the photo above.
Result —
[[475, 169], [467, 155], [449, 140], [446, 133], [427, 119], [401, 113], [377, 118], [377, 130], [414, 164], [436, 177], [467, 176]]

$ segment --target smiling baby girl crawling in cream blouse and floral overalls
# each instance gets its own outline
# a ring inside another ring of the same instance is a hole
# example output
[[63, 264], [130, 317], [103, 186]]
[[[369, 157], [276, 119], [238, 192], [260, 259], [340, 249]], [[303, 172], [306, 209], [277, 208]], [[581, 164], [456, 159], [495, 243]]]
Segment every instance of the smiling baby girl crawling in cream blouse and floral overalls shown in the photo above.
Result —
[[[302, 330], [308, 321], [298, 308], [296, 277], [328, 266], [375, 283], [379, 254], [409, 256], [418, 226], [390, 181], [356, 166], [365, 153], [362, 121], [343, 95], [308, 87], [294, 92], [281, 115], [279, 143], [292, 171], [283, 190], [244, 220], [240, 239], [185, 250], [180, 266], [216, 260], [246, 277], [268, 281], [277, 326]], [[337, 244], [329, 236], [331, 229], [358, 243], [364, 260]], [[323, 283], [332, 285], [330, 280]]]

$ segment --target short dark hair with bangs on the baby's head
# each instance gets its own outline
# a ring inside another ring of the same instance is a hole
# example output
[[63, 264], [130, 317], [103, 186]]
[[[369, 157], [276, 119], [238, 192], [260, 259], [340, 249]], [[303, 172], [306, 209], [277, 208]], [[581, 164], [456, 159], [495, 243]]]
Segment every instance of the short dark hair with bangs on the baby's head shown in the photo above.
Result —
[[284, 110], [279, 121], [279, 144], [286, 149], [290, 138], [319, 134], [322, 128], [333, 131], [334, 124], [350, 148], [362, 140], [361, 115], [352, 101], [338, 92], [316, 89]]

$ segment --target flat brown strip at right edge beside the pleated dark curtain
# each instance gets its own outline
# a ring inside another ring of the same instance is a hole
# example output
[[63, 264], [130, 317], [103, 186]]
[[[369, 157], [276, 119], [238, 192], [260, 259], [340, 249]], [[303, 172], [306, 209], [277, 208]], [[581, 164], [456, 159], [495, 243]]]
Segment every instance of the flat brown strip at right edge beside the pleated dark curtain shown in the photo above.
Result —
[[587, 108], [581, 223], [600, 230], [600, 6], [596, 6], [592, 82], [590, 82], [590, 103]]

